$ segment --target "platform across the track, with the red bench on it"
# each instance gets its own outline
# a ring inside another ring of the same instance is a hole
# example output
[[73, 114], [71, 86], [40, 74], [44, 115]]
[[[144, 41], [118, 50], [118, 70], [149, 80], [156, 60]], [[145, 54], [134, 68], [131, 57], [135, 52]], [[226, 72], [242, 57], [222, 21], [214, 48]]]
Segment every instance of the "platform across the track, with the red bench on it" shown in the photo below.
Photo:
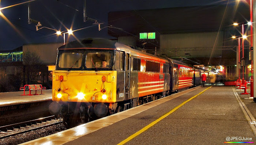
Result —
[[[25, 91], [28, 93], [29, 91]], [[35, 91], [32, 91], [34, 93]], [[50, 115], [52, 89], [27, 96], [24, 91], [0, 93], [0, 126], [43, 118]]]

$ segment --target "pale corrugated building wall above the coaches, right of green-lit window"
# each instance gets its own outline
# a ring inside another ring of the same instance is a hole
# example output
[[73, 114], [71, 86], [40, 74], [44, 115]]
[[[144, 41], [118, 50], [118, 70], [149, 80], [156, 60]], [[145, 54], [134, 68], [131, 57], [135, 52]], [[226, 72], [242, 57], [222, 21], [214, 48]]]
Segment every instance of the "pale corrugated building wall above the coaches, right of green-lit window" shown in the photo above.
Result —
[[[212, 57], [222, 55], [223, 32], [160, 35], [160, 53], [168, 57]], [[215, 39], [217, 38], [216, 44]], [[215, 45], [214, 45], [215, 44]]]

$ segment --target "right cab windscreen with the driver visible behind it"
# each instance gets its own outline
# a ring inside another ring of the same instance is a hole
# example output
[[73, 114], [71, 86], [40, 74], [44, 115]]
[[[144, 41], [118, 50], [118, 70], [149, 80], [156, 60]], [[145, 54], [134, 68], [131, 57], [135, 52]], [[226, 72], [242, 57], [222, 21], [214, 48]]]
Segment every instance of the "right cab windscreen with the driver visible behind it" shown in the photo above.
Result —
[[111, 54], [109, 52], [87, 53], [86, 68], [109, 68]]

